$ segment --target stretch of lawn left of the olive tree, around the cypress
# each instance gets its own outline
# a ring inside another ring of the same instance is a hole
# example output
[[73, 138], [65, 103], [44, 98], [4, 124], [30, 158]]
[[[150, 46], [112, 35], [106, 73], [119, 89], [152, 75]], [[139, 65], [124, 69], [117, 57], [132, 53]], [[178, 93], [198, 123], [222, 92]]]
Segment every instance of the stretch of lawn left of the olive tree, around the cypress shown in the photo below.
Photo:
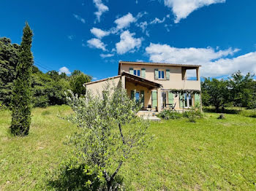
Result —
[[68, 106], [33, 109], [29, 136], [22, 138], [7, 134], [10, 112], [0, 112], [0, 190], [44, 187], [48, 174], [67, 157], [68, 147], [63, 141], [76, 128], [57, 114], [69, 112]]

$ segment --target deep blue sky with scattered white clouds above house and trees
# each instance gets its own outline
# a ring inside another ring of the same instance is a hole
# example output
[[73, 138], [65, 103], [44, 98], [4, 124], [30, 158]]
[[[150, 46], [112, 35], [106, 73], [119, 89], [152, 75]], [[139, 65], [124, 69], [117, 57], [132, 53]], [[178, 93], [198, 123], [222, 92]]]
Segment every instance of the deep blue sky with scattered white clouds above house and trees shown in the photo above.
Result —
[[[254, 0], [2, 0], [0, 36], [34, 31], [42, 71], [114, 76], [118, 61], [202, 65], [204, 77], [256, 73]], [[65, 67], [65, 68], [64, 68]]]

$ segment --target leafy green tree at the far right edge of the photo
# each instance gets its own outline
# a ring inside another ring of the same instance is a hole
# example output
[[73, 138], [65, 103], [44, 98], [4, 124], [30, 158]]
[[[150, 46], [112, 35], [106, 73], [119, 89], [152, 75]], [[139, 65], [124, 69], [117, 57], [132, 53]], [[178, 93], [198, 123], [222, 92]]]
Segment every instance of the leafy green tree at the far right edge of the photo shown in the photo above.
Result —
[[249, 72], [244, 76], [238, 71], [229, 79], [231, 99], [236, 106], [248, 107], [255, 100], [253, 77]]

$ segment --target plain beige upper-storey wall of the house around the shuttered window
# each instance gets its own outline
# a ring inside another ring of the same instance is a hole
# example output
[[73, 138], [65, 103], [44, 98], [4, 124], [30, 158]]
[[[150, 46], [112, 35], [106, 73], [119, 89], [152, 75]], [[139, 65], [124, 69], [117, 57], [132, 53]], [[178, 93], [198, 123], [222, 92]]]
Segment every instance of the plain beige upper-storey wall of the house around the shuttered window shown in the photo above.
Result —
[[[177, 90], [200, 90], [200, 74], [198, 72], [198, 80], [182, 80], [181, 66], [152, 66], [145, 64], [122, 64], [121, 71], [129, 73], [129, 68], [146, 69], [146, 79], [163, 85], [163, 89]], [[155, 79], [154, 69], [170, 69], [170, 79]]]

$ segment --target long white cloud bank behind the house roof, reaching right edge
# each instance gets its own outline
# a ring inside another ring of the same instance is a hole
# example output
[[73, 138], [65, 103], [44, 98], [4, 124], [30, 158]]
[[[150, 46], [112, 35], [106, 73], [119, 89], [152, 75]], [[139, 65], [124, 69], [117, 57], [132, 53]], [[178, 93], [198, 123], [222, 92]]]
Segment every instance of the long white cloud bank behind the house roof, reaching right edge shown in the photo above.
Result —
[[[153, 62], [202, 65], [201, 76], [219, 77], [235, 71], [256, 73], [256, 52], [233, 57], [238, 49], [214, 50], [207, 48], [176, 48], [167, 44], [150, 44], [146, 47]], [[228, 58], [227, 58], [228, 57]]]

